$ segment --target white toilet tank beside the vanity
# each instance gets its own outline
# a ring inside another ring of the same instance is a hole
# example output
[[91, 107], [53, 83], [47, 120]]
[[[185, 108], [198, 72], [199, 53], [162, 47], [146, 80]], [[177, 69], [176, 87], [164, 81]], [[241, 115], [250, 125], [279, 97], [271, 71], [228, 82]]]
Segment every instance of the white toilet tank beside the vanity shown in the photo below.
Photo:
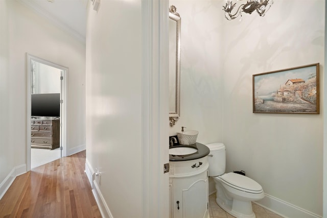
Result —
[[220, 142], [206, 144], [210, 149], [208, 154], [209, 176], [220, 176], [226, 169], [226, 150], [225, 145]]

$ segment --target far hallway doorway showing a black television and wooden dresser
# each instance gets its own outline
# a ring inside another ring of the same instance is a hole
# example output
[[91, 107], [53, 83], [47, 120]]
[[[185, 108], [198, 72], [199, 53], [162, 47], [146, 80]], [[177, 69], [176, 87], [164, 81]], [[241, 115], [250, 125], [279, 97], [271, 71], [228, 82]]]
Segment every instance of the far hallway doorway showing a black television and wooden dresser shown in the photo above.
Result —
[[27, 54], [27, 171], [66, 156], [67, 67]]

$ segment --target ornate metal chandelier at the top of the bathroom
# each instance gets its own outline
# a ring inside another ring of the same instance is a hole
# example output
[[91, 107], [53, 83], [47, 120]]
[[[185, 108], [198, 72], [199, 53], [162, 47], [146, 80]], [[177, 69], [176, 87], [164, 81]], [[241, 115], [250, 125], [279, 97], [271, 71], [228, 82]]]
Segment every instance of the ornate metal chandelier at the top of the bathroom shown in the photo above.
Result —
[[258, 14], [263, 17], [273, 3], [273, 0], [247, 0], [247, 3], [240, 5], [235, 12], [233, 9], [237, 8], [236, 3], [233, 4], [232, 1], [227, 0], [226, 6], [223, 6], [223, 10], [225, 11], [227, 20], [235, 19], [240, 15], [242, 16], [242, 12], [251, 14], [253, 11], [258, 12]]

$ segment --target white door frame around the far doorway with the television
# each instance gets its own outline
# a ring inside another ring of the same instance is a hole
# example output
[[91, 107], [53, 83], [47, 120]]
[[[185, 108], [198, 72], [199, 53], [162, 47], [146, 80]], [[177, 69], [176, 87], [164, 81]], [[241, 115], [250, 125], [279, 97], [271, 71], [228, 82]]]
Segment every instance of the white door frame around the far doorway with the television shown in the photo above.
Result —
[[68, 68], [61, 66], [59, 64], [53, 63], [51, 61], [44, 60], [42, 58], [33, 56], [29, 53], [26, 53], [26, 75], [27, 75], [27, 139], [26, 139], [26, 148], [27, 148], [27, 158], [26, 158], [26, 171], [31, 170], [31, 61], [37, 61], [39, 63], [43, 63], [49, 66], [56, 67], [63, 71], [63, 80], [61, 81], [61, 90], [60, 96], [63, 102], [60, 105], [60, 149], [61, 149], [61, 156], [65, 157], [67, 154], [67, 146], [66, 146], [66, 101], [67, 101], [67, 75], [68, 75]]

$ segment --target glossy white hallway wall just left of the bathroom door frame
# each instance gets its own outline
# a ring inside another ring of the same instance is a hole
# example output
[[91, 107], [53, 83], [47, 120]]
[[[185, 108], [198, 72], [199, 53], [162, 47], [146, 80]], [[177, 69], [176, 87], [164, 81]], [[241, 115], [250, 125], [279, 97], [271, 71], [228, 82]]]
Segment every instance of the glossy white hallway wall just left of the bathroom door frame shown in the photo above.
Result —
[[112, 217], [143, 212], [141, 6], [102, 1], [87, 15], [86, 160]]

